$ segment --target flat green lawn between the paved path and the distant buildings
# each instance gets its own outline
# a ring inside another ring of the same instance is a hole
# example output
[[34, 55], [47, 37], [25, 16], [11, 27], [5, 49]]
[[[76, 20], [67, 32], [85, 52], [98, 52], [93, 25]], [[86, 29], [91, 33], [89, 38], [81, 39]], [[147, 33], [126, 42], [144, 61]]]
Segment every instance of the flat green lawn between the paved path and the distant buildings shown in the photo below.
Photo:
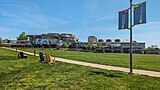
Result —
[[[33, 52], [33, 49], [22, 49]], [[37, 50], [37, 53], [50, 53], [53, 56], [98, 63], [103, 65], [112, 65], [129, 68], [129, 54], [120, 53], [92, 53], [79, 51], [64, 51], [64, 50]], [[142, 70], [152, 70], [160, 72], [160, 55], [150, 54], [134, 54], [133, 68]]]

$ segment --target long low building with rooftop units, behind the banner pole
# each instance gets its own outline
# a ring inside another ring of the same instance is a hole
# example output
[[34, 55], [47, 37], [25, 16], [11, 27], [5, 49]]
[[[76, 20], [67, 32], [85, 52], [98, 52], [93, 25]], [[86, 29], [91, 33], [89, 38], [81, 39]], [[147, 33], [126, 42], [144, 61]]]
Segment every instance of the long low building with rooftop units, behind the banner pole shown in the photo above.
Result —
[[[107, 39], [106, 42], [103, 42], [102, 39], [99, 39], [98, 42], [78, 42], [76, 43], [79, 48], [86, 48], [88, 43], [91, 43], [93, 46], [100, 44], [103, 51], [109, 53], [129, 53], [130, 52], [130, 42], [121, 42], [120, 39], [115, 39], [112, 42], [111, 39]], [[144, 53], [145, 43], [133, 41], [133, 53]]]

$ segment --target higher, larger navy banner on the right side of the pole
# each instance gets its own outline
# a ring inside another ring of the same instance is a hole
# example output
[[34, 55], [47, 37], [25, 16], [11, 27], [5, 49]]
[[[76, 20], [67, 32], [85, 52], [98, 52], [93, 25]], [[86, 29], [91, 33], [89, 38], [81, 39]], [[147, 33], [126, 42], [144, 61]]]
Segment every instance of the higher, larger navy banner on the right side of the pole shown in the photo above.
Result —
[[146, 2], [134, 5], [134, 25], [146, 23]]

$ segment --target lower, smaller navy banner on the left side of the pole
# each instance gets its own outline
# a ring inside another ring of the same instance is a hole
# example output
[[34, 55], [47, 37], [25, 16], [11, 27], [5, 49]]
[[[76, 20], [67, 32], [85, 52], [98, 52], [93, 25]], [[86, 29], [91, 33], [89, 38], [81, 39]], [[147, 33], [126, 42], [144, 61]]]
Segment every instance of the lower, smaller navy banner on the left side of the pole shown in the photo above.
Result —
[[119, 12], [119, 26], [118, 29], [128, 29], [128, 10]]

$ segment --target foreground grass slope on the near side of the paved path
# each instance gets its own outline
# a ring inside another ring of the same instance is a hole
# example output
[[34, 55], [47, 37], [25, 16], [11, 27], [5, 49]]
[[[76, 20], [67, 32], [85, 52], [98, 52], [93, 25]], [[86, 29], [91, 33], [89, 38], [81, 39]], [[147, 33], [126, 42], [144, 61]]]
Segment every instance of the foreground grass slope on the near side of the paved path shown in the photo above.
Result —
[[17, 52], [0, 48], [0, 90], [4, 89], [156, 89], [160, 78], [129, 75], [56, 62], [39, 63], [39, 57], [18, 59]]

